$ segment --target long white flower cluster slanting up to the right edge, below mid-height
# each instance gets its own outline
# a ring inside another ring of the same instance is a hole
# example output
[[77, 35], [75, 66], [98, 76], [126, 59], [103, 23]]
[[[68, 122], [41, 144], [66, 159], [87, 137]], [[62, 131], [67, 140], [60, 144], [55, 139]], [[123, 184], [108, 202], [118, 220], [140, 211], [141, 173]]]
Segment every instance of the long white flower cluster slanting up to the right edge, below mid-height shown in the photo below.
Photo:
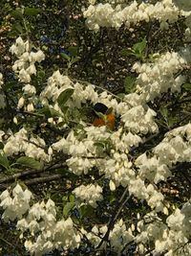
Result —
[[147, 178], [156, 184], [166, 181], [171, 175], [169, 168], [177, 162], [190, 162], [191, 154], [191, 124], [175, 128], [166, 133], [165, 138], [153, 150], [154, 155], [147, 157], [146, 153], [138, 156], [136, 165], [139, 176]]

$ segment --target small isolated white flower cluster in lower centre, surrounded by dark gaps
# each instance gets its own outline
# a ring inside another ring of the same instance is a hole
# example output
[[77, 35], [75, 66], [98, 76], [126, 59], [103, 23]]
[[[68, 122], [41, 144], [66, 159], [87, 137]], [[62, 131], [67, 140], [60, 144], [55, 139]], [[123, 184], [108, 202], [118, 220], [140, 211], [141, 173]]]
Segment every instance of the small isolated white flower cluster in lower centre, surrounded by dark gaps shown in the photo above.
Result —
[[102, 188], [99, 185], [89, 184], [89, 185], [81, 185], [74, 189], [73, 191], [76, 199], [79, 199], [82, 204], [87, 203], [91, 206], [97, 206], [96, 201], [101, 201], [102, 197]]

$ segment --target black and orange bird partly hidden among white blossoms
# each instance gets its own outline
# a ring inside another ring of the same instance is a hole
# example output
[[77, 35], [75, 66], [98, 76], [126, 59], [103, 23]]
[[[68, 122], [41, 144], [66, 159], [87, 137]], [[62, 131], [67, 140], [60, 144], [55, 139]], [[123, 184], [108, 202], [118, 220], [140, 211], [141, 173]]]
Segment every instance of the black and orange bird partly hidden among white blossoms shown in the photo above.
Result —
[[106, 105], [101, 103], [97, 103], [93, 108], [95, 115], [93, 125], [95, 127], [106, 126], [107, 128], [114, 130], [116, 126], [116, 117], [113, 113], [113, 108], [108, 108]]

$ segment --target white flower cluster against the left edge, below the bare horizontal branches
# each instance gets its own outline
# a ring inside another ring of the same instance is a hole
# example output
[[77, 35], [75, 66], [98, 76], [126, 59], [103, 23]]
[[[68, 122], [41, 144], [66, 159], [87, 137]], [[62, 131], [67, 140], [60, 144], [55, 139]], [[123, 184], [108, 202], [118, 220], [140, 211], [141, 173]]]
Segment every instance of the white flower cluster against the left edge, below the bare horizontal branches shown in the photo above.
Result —
[[13, 188], [12, 192], [5, 190], [0, 195], [0, 206], [4, 209], [2, 219], [4, 221], [20, 220], [30, 209], [31, 199], [32, 193], [28, 189], [23, 190], [19, 184]]

